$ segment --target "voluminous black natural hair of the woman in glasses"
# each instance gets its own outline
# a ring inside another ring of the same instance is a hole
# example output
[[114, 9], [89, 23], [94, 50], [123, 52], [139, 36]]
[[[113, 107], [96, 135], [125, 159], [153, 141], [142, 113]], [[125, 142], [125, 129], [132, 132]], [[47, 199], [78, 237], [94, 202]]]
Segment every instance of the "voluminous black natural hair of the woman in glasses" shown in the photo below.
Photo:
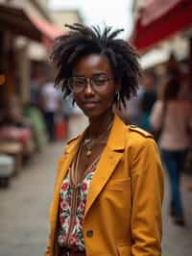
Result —
[[[64, 97], [71, 93], [68, 79], [72, 76], [74, 65], [89, 54], [104, 54], [108, 57], [114, 80], [120, 84], [120, 101], [136, 94], [140, 65], [138, 55], [128, 41], [116, 38], [123, 30], [112, 31], [111, 27], [87, 27], [75, 23], [65, 25], [69, 32], [56, 39], [51, 54], [51, 61], [56, 65], [56, 87], [64, 92]], [[117, 102], [117, 97], [114, 99]]]

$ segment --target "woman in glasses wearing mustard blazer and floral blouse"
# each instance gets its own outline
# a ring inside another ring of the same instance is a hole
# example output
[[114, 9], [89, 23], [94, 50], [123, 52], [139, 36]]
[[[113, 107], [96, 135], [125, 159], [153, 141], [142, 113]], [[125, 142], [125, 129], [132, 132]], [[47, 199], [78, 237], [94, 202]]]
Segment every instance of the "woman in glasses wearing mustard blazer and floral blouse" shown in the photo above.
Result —
[[88, 117], [60, 157], [46, 255], [160, 255], [162, 169], [148, 133], [113, 114], [137, 88], [139, 65], [121, 32], [67, 26], [52, 60], [56, 84]]

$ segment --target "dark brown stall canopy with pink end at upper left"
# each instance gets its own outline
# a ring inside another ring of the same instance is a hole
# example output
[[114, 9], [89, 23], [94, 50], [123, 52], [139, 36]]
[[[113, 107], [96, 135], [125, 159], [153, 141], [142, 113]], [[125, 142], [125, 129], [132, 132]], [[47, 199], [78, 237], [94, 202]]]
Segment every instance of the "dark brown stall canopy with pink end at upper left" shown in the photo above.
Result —
[[62, 31], [51, 22], [11, 6], [0, 5], [0, 30], [10, 30], [15, 35], [42, 41], [46, 46]]

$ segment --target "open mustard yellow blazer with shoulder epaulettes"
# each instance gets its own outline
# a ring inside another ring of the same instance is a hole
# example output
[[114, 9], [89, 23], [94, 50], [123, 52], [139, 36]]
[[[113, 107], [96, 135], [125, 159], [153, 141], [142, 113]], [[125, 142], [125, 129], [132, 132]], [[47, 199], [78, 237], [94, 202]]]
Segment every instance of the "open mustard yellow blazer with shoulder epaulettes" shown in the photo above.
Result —
[[[83, 138], [84, 133], [69, 141], [60, 157], [46, 256], [59, 255], [60, 185]], [[163, 172], [156, 142], [115, 115], [87, 195], [83, 226], [86, 256], [161, 255], [162, 197]]]

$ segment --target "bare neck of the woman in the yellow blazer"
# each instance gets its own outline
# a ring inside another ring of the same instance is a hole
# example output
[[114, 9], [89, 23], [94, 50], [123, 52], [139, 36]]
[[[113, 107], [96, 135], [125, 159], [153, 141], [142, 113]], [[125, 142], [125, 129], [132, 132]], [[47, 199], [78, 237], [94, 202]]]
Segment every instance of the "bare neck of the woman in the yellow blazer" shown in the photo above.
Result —
[[89, 119], [88, 127], [88, 137], [89, 138], [98, 138], [102, 133], [107, 131], [108, 126], [113, 120], [114, 114], [111, 111], [108, 111], [104, 115], [100, 115], [97, 118]]

